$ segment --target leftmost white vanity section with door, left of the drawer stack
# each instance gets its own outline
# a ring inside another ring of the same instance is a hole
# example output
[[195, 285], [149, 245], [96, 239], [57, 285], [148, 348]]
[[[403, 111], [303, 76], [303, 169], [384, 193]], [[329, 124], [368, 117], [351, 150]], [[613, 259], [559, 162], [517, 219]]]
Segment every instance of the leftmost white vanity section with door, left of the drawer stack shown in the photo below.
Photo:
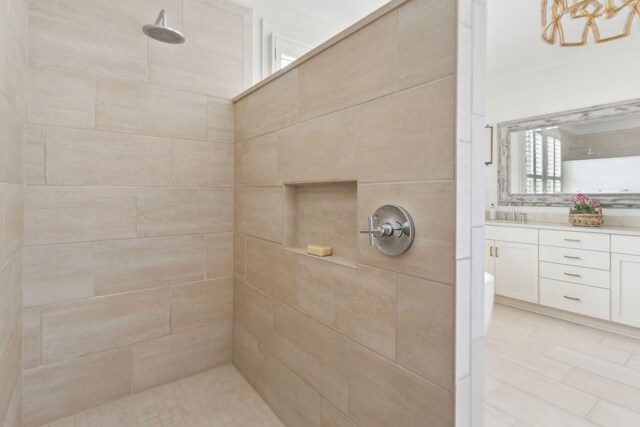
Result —
[[487, 227], [485, 268], [496, 294], [538, 303], [538, 231]]

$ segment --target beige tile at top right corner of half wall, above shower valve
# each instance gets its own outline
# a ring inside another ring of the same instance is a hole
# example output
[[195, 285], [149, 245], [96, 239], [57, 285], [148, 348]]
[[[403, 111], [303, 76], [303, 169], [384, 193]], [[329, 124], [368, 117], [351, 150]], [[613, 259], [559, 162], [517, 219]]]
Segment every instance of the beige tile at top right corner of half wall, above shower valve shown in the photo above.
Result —
[[452, 75], [456, 69], [456, 2], [412, 1], [398, 15], [399, 88]]

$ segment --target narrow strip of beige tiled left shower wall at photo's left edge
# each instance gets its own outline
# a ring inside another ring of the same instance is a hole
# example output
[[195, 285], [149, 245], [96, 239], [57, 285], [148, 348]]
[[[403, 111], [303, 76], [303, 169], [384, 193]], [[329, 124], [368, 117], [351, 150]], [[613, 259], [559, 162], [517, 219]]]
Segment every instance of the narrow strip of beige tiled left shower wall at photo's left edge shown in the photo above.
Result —
[[22, 425], [26, 32], [27, 0], [0, 0], [0, 425], [4, 427]]

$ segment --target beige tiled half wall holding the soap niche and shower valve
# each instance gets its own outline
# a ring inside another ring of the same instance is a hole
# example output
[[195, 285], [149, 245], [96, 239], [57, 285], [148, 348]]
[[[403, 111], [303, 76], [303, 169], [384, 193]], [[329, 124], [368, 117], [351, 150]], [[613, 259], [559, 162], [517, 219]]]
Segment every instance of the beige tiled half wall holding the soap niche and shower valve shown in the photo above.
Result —
[[[410, 0], [235, 104], [233, 361], [288, 426], [454, 425], [456, 25], [455, 2]], [[283, 184], [337, 181], [349, 262], [288, 250]], [[386, 203], [416, 222], [397, 258], [357, 232]]]

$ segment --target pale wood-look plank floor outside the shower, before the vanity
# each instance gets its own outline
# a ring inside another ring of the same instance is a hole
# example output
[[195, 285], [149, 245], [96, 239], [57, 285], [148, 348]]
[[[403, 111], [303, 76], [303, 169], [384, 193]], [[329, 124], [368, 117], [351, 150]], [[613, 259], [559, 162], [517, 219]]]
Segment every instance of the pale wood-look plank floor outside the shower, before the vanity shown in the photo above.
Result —
[[485, 427], [640, 427], [640, 340], [496, 304]]

